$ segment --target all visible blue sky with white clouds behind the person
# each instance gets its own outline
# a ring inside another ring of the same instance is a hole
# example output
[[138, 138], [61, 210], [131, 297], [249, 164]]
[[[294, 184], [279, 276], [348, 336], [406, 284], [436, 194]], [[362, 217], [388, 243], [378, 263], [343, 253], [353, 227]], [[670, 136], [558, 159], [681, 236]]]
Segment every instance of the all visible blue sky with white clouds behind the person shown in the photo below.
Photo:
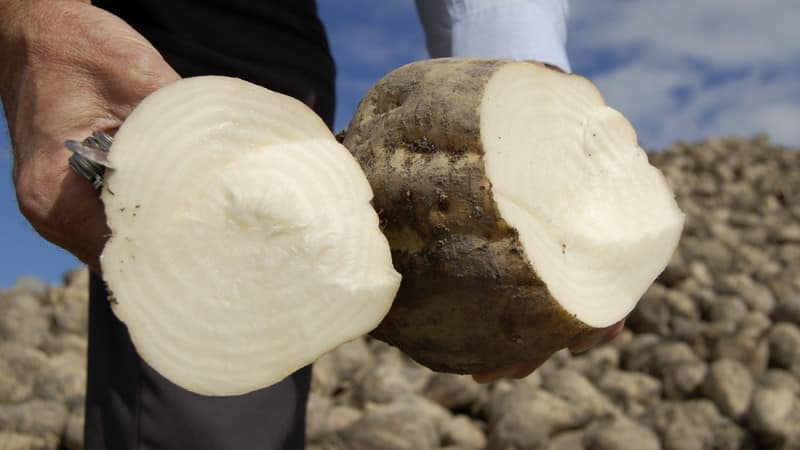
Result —
[[[427, 56], [413, 0], [318, 0], [338, 64], [336, 129], [385, 73]], [[380, 5], [377, 7], [376, 5]], [[641, 143], [768, 133], [800, 147], [797, 0], [573, 0], [568, 52]], [[78, 262], [19, 214], [0, 116], [0, 287]]]

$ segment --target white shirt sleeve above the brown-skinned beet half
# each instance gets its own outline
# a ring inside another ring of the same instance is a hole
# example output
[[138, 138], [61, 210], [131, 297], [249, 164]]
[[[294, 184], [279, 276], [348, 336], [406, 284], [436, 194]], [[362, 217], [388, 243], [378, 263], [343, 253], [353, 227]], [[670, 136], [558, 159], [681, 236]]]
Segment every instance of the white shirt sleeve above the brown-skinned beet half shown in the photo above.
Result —
[[568, 0], [416, 0], [431, 57], [531, 59], [570, 71]]

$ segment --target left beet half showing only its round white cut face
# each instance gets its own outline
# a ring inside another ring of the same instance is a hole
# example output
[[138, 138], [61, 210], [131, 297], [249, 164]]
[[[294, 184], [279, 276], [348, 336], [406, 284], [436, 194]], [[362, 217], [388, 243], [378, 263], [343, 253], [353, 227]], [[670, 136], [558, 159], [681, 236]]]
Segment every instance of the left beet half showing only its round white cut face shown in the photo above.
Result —
[[111, 147], [102, 257], [140, 355], [191, 391], [274, 384], [373, 329], [400, 276], [352, 155], [305, 105], [198, 77]]

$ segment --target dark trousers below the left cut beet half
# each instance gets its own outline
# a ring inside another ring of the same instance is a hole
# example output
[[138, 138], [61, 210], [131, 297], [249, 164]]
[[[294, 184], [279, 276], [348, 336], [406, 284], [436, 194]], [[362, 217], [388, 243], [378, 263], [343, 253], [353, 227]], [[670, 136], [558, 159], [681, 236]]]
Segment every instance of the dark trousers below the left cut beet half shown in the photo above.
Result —
[[304, 448], [310, 366], [245, 395], [186, 391], [139, 357], [94, 274], [88, 371], [87, 450]]

